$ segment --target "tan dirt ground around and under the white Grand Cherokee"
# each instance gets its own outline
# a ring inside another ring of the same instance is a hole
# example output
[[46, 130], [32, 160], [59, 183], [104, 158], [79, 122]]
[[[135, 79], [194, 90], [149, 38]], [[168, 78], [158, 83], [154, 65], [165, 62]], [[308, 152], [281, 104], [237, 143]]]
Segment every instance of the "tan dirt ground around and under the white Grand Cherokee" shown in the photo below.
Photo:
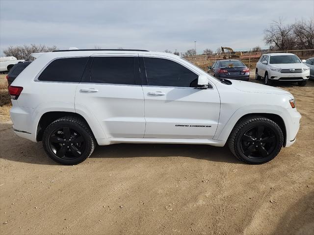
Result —
[[0, 122], [0, 234], [313, 235], [314, 82], [281, 88], [301, 128], [262, 165], [226, 147], [115, 144], [63, 166]]

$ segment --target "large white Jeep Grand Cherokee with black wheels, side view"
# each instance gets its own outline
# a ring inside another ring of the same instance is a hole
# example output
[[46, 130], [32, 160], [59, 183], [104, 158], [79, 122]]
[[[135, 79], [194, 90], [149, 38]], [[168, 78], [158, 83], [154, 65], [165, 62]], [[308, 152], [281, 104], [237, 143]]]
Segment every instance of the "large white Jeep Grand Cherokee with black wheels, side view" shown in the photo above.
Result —
[[48, 52], [9, 93], [14, 133], [42, 141], [61, 164], [84, 161], [97, 143], [126, 142], [228, 143], [239, 160], [262, 164], [295, 141], [301, 118], [287, 91], [218, 80], [145, 50]]

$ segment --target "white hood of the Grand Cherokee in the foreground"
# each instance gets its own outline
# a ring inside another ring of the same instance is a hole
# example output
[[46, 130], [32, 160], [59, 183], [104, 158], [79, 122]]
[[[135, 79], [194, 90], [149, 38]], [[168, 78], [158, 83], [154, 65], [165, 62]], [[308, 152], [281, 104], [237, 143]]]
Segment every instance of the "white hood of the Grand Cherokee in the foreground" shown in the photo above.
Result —
[[245, 82], [245, 81], [237, 81], [231, 80], [232, 85], [235, 89], [242, 91], [242, 92], [252, 92], [252, 93], [263, 93], [263, 94], [283, 94], [288, 95], [293, 99], [293, 95], [283, 89], [277, 87], [271, 87], [262, 85], [255, 82]]

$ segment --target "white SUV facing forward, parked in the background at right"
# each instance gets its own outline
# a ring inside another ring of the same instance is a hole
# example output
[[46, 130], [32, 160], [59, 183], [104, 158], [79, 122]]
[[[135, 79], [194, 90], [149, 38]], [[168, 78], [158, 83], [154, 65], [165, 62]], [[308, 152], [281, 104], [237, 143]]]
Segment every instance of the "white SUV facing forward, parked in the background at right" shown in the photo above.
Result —
[[310, 78], [310, 68], [291, 53], [270, 53], [261, 56], [256, 64], [255, 79], [264, 78], [265, 85], [273, 81], [297, 82], [305, 86]]

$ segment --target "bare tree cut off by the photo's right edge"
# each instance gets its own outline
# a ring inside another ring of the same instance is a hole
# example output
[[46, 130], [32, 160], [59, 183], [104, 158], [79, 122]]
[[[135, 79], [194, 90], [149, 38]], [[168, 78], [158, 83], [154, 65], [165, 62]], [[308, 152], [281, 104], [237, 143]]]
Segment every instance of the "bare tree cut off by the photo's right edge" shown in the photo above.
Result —
[[295, 47], [298, 49], [314, 48], [314, 19], [300, 20], [292, 25], [295, 38]]

